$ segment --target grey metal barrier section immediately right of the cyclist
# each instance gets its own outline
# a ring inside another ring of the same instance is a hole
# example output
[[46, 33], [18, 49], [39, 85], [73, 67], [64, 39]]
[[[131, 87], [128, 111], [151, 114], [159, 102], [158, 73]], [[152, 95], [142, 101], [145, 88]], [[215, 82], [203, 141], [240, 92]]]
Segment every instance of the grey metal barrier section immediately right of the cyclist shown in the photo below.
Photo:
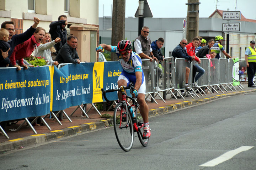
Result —
[[[149, 96], [156, 104], [158, 104], [152, 94], [154, 95], [154, 87], [156, 87], [156, 62], [150, 62], [150, 59], [142, 60], [142, 69], [146, 83], [146, 98]], [[146, 99], [145, 98], [145, 99]]]

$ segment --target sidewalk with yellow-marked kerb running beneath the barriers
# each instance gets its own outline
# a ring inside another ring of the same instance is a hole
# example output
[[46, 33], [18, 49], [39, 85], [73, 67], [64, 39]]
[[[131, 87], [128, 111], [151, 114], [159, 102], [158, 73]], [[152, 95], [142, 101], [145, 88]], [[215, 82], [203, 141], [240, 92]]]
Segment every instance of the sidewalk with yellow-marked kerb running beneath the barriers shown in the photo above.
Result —
[[[185, 97], [185, 100], [176, 100], [174, 98], [170, 99], [170, 94], [168, 94], [166, 96], [166, 103], [160, 100], [160, 97], [157, 96], [156, 101], [158, 102], [158, 104], [147, 102], [149, 106], [149, 117], [158, 114], [164, 114], [170, 111], [174, 111], [176, 109], [192, 106], [210, 100], [217, 100], [221, 97], [256, 92], [256, 88], [249, 88], [247, 87], [247, 84], [242, 84], [242, 86], [244, 86], [243, 90], [241, 90], [239, 87], [236, 87], [237, 91], [229, 90], [228, 92], [224, 91], [224, 93], [218, 91], [219, 94], [217, 94], [216, 92], [214, 94], [208, 93], [207, 96], [203, 95], [203, 97], [198, 95], [200, 98], [194, 96], [194, 99], [192, 97]], [[162, 96], [162, 92], [160, 93], [160, 95]], [[89, 104], [87, 106], [87, 109], [89, 109], [90, 106], [91, 105]], [[66, 114], [70, 115], [76, 107], [77, 106], [65, 109]], [[113, 111], [100, 112], [102, 115], [105, 113], [113, 115]], [[105, 128], [107, 126], [110, 126], [111, 124], [111, 120], [100, 118], [100, 115], [96, 112], [94, 108], [92, 108], [90, 112], [87, 113], [87, 115], [89, 116], [89, 118], [86, 118], [85, 116], [81, 117], [81, 111], [80, 109], [77, 109], [76, 112], [70, 117], [72, 122], [69, 122], [68, 119], [63, 117], [63, 121], [61, 121], [62, 125], [59, 125], [56, 120], [46, 118], [45, 120], [52, 130], [48, 130], [46, 126], [34, 126], [37, 134], [34, 134], [31, 128], [27, 128], [26, 125], [24, 125], [19, 131], [12, 131], [14, 129], [17, 129], [23, 121], [18, 121], [17, 124], [6, 126], [5, 132], [10, 139], [6, 139], [5, 136], [0, 136], [0, 153], [11, 151], [17, 148], [36, 145], [38, 143], [55, 140], [57, 138], [62, 138], [65, 136], [76, 135], [85, 131]]]

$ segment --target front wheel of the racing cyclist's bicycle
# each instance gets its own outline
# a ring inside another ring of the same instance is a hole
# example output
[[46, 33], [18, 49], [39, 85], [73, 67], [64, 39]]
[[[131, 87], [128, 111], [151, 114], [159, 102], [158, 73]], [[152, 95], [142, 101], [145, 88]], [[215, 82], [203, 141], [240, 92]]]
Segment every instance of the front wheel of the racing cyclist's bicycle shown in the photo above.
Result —
[[[114, 132], [115, 132], [116, 139], [119, 146], [124, 151], [128, 152], [133, 146], [134, 131], [133, 131], [133, 121], [130, 113], [125, 113], [126, 118], [121, 118], [120, 116], [123, 110], [126, 111], [126, 107], [127, 106], [123, 103], [117, 104], [116, 108], [114, 109], [113, 125], [114, 125]], [[119, 111], [118, 111], [118, 108], [119, 108]], [[117, 122], [117, 120], [120, 120], [120, 123]], [[121, 128], [120, 128], [120, 125], [121, 125]]]

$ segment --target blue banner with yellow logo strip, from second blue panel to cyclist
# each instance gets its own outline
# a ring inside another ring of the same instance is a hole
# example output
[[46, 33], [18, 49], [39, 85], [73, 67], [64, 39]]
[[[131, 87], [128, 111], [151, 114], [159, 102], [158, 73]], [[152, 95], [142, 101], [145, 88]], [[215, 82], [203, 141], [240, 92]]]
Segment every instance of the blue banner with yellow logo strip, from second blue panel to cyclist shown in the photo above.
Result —
[[[54, 68], [53, 103], [51, 111], [59, 111], [82, 103], [103, 102], [101, 88], [117, 89], [117, 79], [122, 72], [118, 61], [68, 64]], [[117, 94], [107, 94], [117, 100]]]

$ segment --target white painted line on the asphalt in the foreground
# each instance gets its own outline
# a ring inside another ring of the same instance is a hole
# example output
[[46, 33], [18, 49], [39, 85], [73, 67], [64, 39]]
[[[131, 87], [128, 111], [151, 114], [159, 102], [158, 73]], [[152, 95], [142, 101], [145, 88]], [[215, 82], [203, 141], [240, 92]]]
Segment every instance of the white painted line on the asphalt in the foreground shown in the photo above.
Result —
[[223, 155], [220, 155], [218, 158], [210, 160], [207, 163], [204, 163], [204, 164], [199, 165], [199, 166], [215, 166], [215, 165], [218, 165], [220, 163], [225, 162], [226, 160], [229, 160], [229, 159], [233, 158], [236, 154], [239, 154], [240, 152], [243, 152], [243, 151], [247, 151], [247, 150], [249, 150], [253, 147], [254, 146], [241, 146], [241, 147], [239, 147], [235, 150], [228, 151], [228, 152], [224, 153]]

